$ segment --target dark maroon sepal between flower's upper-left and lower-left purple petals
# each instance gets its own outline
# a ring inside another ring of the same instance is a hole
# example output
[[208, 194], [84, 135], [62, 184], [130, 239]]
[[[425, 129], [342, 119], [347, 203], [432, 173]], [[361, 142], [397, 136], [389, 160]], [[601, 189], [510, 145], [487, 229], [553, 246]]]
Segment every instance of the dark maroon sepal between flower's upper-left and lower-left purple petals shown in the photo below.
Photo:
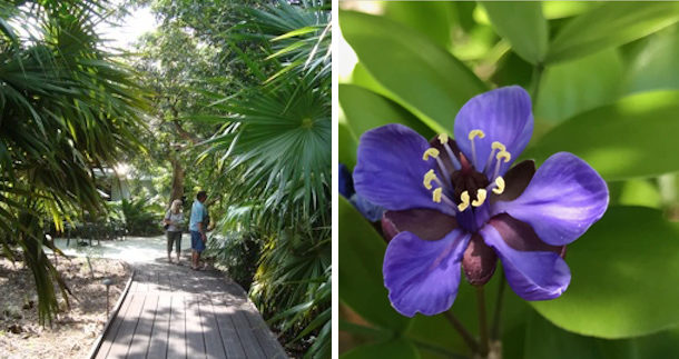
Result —
[[382, 232], [390, 241], [400, 232], [409, 231], [423, 240], [440, 240], [457, 228], [455, 217], [432, 209], [386, 211], [382, 217]]

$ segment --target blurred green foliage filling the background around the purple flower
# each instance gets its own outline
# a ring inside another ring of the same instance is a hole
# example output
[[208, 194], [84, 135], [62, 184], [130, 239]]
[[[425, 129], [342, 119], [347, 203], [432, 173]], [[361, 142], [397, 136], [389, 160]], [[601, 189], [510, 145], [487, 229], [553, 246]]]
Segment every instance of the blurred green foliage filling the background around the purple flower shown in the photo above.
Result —
[[[465, 101], [519, 84], [535, 118], [521, 159], [569, 151], [608, 182], [608, 212], [569, 246], [568, 291], [543, 302], [504, 291], [503, 358], [679, 358], [678, 20], [678, 2], [340, 2], [340, 162], [350, 170], [366, 130], [452, 134]], [[342, 356], [468, 356], [443, 316], [392, 309], [374, 225], [340, 199]], [[491, 312], [502, 276], [486, 285]], [[478, 332], [465, 282], [452, 312]]]

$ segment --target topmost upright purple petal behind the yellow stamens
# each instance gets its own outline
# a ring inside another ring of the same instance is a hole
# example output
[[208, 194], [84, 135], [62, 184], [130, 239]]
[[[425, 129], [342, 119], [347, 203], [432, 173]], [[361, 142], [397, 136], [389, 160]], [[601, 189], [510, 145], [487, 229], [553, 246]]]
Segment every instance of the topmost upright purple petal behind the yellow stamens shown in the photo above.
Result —
[[[473, 97], [460, 109], [455, 117], [455, 140], [470, 161], [472, 143], [469, 133], [472, 130], [485, 133], [484, 138], [474, 139], [479, 171], [485, 167], [493, 141], [504, 144], [512, 160], [516, 159], [533, 133], [530, 96], [518, 86], [503, 87]], [[504, 173], [511, 163], [502, 163], [500, 173]]]

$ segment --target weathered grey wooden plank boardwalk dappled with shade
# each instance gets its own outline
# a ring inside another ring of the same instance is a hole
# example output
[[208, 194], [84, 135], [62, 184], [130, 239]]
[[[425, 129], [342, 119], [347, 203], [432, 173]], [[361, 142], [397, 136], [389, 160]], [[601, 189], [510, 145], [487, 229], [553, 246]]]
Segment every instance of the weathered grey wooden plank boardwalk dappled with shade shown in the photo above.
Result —
[[135, 266], [92, 358], [287, 358], [245, 291], [217, 272]]

